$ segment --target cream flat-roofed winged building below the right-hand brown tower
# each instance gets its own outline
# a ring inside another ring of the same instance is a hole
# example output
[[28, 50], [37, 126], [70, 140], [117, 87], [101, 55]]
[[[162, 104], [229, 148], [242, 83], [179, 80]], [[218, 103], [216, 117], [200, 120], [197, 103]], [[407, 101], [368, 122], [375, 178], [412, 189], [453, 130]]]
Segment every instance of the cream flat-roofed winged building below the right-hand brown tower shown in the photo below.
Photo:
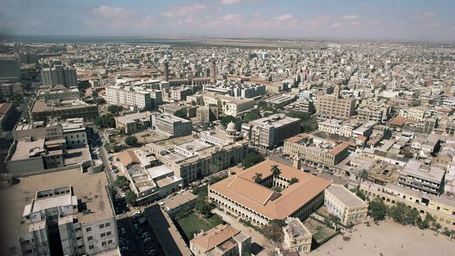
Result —
[[186, 97], [187, 102], [203, 101], [205, 106], [216, 105], [220, 113], [230, 115], [232, 117], [241, 116], [255, 107], [255, 100], [242, 99], [239, 97], [230, 97], [226, 95], [215, 95], [213, 93], [198, 93]]

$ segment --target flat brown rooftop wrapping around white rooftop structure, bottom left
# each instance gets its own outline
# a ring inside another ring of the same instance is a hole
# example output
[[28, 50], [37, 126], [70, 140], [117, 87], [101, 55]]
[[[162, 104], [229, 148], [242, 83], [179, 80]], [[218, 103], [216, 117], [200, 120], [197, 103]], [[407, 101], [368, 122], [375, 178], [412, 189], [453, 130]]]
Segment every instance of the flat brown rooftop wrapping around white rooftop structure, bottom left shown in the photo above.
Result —
[[20, 178], [19, 183], [0, 190], [0, 201], [8, 206], [0, 208], [2, 227], [8, 230], [4, 239], [15, 240], [19, 235], [28, 233], [29, 225], [21, 224], [23, 210], [35, 198], [36, 191], [49, 188], [73, 187], [74, 196], [86, 203], [87, 209], [92, 211], [86, 215], [77, 213], [77, 218], [82, 223], [112, 217], [114, 213], [109, 205], [106, 184], [105, 172], [82, 174], [79, 168]]

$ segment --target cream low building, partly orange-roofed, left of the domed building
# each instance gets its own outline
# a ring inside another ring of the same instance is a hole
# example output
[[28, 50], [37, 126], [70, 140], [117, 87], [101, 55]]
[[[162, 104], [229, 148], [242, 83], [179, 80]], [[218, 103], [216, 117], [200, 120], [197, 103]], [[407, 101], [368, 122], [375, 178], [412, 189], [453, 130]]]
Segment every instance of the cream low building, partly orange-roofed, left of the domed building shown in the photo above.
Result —
[[[154, 166], [156, 159], [149, 152], [137, 149], [123, 151], [119, 156], [129, 187], [137, 196], [137, 203], [145, 204], [179, 191], [183, 179], [173, 175], [167, 166]], [[137, 164], [134, 164], [137, 163]]]

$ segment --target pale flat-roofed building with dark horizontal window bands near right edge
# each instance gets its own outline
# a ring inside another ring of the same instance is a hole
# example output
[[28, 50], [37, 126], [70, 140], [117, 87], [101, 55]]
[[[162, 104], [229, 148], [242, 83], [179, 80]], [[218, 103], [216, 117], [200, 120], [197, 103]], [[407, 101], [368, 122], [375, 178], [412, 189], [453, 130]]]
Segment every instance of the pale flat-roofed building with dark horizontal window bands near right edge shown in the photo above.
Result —
[[446, 171], [438, 166], [432, 166], [427, 160], [410, 159], [405, 168], [400, 170], [398, 185], [412, 188], [423, 193], [439, 195], [444, 190], [444, 175]]

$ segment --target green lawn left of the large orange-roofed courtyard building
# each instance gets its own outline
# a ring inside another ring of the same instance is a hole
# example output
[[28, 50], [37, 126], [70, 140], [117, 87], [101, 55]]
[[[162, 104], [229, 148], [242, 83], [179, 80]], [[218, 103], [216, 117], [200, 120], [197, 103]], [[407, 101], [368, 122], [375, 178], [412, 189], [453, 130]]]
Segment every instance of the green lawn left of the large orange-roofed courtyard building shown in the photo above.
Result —
[[198, 233], [200, 230], [207, 231], [221, 224], [218, 215], [213, 215], [205, 220], [204, 218], [196, 215], [196, 213], [191, 213], [186, 218], [177, 220], [177, 223], [180, 225], [180, 228], [183, 230], [183, 233], [185, 233], [188, 240], [193, 239], [194, 233]]

